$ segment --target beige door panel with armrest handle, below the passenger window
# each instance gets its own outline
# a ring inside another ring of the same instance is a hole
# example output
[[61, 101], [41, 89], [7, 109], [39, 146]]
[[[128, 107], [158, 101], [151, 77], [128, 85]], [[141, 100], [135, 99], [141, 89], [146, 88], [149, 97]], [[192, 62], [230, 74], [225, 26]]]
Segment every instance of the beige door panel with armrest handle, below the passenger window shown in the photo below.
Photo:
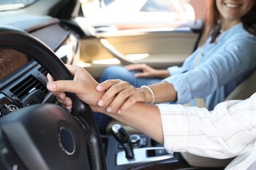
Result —
[[[133, 63], [146, 63], [155, 68], [181, 65], [194, 51], [199, 37], [200, 33], [190, 27], [101, 31], [95, 33], [95, 37], [81, 41], [81, 61], [90, 63], [87, 70], [95, 78], [101, 75], [105, 67], [121, 64], [116, 61], [95, 64], [100, 59], [114, 58], [100, 42], [100, 39], [106, 39], [123, 56], [132, 56]], [[143, 55], [148, 57], [136, 58]]]

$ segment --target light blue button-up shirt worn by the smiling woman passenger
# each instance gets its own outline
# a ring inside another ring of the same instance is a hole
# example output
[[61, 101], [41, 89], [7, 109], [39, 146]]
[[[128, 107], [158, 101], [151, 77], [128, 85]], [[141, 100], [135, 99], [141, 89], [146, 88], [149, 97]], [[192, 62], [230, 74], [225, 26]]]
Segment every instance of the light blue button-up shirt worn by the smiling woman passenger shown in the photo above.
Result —
[[182, 67], [168, 68], [171, 76], [163, 81], [173, 84], [178, 95], [175, 103], [196, 105], [194, 98], [206, 96], [205, 105], [212, 110], [255, 68], [256, 36], [245, 31], [242, 23], [210, 41], [211, 37]]

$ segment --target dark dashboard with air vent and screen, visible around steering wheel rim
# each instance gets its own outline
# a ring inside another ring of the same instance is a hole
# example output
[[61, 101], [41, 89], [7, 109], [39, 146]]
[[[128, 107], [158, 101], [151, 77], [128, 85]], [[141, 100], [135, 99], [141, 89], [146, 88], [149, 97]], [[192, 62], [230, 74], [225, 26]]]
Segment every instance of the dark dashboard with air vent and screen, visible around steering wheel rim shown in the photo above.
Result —
[[[12, 16], [7, 17], [10, 20], [5, 21], [13, 21]], [[73, 64], [79, 61], [79, 34], [56, 18], [21, 15], [15, 22], [0, 24], [27, 31], [47, 44], [64, 63]], [[36, 91], [43, 93], [40, 103], [56, 103], [56, 98], [46, 88], [46, 76], [47, 71], [30, 56], [0, 47], [0, 105], [18, 109], [37, 104], [37, 99], [33, 99], [32, 95]], [[1, 110], [0, 114], [3, 114]]]

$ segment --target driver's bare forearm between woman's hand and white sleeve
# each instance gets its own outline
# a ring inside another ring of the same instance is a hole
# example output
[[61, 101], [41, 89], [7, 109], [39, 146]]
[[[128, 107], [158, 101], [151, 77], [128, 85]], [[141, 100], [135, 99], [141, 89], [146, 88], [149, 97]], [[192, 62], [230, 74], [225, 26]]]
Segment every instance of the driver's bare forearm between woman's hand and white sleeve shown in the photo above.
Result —
[[104, 112], [108, 116], [123, 122], [142, 133], [148, 135], [155, 141], [163, 143], [163, 129], [161, 126], [161, 115], [158, 106], [145, 103], [135, 103], [122, 114], [106, 112], [102, 107], [94, 108], [98, 112]]

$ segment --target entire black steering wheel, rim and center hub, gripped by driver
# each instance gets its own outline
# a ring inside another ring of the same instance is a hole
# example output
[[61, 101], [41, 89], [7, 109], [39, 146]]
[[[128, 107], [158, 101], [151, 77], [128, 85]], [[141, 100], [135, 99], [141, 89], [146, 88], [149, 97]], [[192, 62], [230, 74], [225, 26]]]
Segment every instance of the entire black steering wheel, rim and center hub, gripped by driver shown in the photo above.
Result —
[[[73, 80], [54, 52], [26, 31], [0, 26], [0, 48], [18, 50], [44, 67], [54, 80]], [[0, 164], [26, 169], [107, 169], [100, 134], [89, 105], [73, 93], [71, 114], [54, 104], [16, 110], [0, 118]], [[7, 154], [16, 154], [8, 157]], [[10, 160], [11, 159], [11, 160]], [[20, 164], [19, 164], [20, 163]], [[89, 164], [89, 165], [88, 165]]]

